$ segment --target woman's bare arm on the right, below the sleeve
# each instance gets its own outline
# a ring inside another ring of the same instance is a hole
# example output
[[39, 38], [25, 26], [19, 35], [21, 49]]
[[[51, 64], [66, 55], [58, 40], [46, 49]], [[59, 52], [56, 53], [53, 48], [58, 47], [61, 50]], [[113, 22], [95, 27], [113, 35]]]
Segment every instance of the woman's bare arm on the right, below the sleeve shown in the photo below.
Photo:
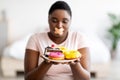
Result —
[[82, 57], [80, 63], [70, 64], [75, 80], [90, 80], [90, 54], [87, 48], [78, 50]]

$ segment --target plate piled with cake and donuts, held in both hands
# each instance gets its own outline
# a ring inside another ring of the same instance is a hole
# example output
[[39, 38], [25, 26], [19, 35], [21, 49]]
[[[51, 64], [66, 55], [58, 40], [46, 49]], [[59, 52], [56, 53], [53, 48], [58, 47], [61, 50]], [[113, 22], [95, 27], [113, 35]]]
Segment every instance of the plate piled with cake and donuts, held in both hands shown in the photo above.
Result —
[[76, 61], [81, 57], [77, 50], [68, 50], [65, 47], [46, 47], [42, 58], [47, 61], [64, 63]]

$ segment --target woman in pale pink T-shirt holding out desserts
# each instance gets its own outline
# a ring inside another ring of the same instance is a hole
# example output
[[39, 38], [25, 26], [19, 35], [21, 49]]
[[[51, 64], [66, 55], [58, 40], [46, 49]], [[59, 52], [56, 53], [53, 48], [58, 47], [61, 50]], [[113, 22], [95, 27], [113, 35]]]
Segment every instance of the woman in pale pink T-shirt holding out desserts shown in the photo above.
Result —
[[[48, 15], [49, 32], [36, 33], [28, 41], [25, 53], [25, 80], [90, 80], [89, 51], [83, 36], [69, 31], [72, 12], [64, 1], [55, 2]], [[78, 50], [80, 61], [58, 64], [40, 56], [47, 46], [65, 46]]]

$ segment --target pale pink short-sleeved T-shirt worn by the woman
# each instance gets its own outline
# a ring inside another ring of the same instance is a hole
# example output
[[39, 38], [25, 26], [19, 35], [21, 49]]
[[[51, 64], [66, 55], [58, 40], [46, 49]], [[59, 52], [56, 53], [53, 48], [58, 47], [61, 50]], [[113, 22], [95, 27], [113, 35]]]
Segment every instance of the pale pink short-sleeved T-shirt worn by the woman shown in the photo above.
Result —
[[[88, 47], [84, 36], [78, 32], [69, 32], [68, 37], [61, 44], [54, 43], [48, 36], [47, 32], [35, 33], [28, 40], [26, 49], [32, 49], [39, 51], [40, 55], [44, 54], [46, 47], [51, 46], [52, 44], [55, 47], [64, 46], [68, 49], [78, 50], [80, 48]], [[39, 57], [39, 64], [43, 59]], [[58, 64], [52, 65], [46, 76], [43, 80], [73, 80], [72, 71], [68, 64]]]

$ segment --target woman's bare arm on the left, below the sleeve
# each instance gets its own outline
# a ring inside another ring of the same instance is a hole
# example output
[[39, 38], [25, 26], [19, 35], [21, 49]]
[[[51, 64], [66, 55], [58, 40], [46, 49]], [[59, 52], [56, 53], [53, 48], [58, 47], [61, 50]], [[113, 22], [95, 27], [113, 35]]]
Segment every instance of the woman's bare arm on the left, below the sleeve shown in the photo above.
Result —
[[41, 65], [38, 65], [39, 52], [26, 49], [24, 68], [25, 68], [25, 80], [42, 80], [48, 69], [51, 67], [51, 63], [43, 61]]

